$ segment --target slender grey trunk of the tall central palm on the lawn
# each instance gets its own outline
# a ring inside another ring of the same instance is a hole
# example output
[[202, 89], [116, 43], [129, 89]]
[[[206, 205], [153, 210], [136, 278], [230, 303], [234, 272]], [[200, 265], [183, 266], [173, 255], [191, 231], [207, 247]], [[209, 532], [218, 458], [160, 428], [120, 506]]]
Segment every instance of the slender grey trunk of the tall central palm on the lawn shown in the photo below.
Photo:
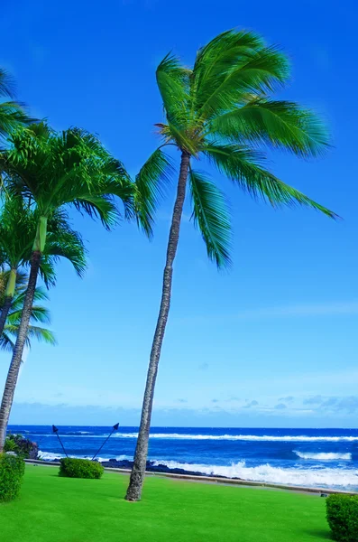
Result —
[[135, 448], [131, 480], [129, 482], [127, 494], [125, 495], [126, 500], [140, 500], [142, 494], [142, 484], [144, 481], [148, 455], [148, 441], [149, 431], [151, 428], [151, 410], [154, 398], [154, 388], [158, 373], [159, 360], [161, 358], [161, 346], [163, 343], [170, 310], [171, 283], [173, 275], [172, 265], [178, 248], [180, 221], [185, 200], [189, 162], [190, 154], [183, 151], [181, 154], [177, 199], [174, 204], [173, 216], [171, 219], [167, 259], [164, 267], [163, 285], [161, 291], [161, 308], [151, 346], [151, 357], [142, 403], [141, 425]]

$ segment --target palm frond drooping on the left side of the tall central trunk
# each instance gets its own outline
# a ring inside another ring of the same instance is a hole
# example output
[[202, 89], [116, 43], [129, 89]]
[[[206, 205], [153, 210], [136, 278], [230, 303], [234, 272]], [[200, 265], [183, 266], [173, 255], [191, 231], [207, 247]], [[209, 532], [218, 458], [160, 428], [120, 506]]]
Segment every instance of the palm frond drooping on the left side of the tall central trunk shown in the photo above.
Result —
[[134, 210], [138, 226], [151, 238], [155, 210], [170, 184], [170, 156], [160, 148], [148, 158], [134, 183]]

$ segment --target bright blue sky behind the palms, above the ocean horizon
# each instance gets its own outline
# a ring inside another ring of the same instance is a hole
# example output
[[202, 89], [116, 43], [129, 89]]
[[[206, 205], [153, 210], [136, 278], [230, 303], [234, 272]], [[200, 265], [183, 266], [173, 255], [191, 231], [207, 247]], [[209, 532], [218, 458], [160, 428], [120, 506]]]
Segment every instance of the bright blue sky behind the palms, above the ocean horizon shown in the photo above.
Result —
[[[334, 148], [309, 163], [271, 154], [272, 169], [344, 220], [271, 210], [219, 179], [233, 213], [234, 266], [218, 273], [187, 205], [153, 424], [356, 426], [354, 3], [108, 0], [99, 9], [20, 0], [2, 14], [0, 65], [33, 115], [96, 132], [131, 173], [157, 143], [154, 72], [168, 51], [190, 64], [199, 46], [237, 26], [289, 53], [293, 77], [280, 97], [326, 117]], [[50, 291], [59, 346], [33, 345], [12, 423], [138, 424], [173, 196], [151, 243], [134, 225], [108, 234], [74, 219], [87, 239], [87, 276], [59, 266]], [[8, 360], [0, 354], [0, 381]]]

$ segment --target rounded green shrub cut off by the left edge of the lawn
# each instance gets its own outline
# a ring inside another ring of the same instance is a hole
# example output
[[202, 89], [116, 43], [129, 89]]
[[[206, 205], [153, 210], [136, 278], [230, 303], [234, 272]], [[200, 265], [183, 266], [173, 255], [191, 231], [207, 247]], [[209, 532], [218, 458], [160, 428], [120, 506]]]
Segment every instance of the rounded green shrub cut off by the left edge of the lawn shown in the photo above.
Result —
[[25, 463], [17, 455], [0, 453], [0, 501], [13, 500], [23, 482]]

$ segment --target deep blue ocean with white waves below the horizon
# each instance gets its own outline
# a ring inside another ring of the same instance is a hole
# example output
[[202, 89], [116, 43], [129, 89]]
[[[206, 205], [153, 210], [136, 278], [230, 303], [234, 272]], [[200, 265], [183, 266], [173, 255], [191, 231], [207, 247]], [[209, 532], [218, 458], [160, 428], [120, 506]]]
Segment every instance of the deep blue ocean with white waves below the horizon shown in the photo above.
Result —
[[[39, 444], [45, 460], [63, 452], [51, 427], [10, 425]], [[59, 426], [69, 455], [91, 458], [111, 427]], [[137, 427], [119, 427], [101, 459], [133, 459]], [[358, 429], [152, 427], [149, 459], [171, 468], [250, 481], [358, 491]]]

